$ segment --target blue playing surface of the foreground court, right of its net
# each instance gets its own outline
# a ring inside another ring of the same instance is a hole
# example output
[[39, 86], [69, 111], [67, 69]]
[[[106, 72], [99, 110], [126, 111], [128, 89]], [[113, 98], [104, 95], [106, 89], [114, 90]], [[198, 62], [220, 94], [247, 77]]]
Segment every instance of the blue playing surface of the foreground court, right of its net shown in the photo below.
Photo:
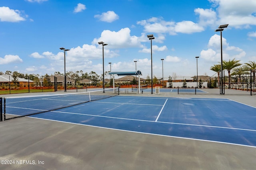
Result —
[[256, 147], [256, 108], [228, 99], [115, 96], [30, 117]]

